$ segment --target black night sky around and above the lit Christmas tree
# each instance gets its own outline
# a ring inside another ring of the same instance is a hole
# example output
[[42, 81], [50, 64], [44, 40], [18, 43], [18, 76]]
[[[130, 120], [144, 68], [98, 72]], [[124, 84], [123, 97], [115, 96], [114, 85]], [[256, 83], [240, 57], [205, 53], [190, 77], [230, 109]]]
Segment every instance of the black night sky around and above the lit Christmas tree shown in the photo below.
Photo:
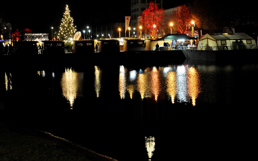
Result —
[[[3, 2], [1, 16], [6, 17], [11, 24], [21, 28], [32, 29], [33, 33], [51, 33], [58, 31], [63, 18], [66, 4], [70, 9], [70, 15], [74, 19], [77, 31], [82, 31], [86, 26], [124, 22], [125, 16], [131, 16], [130, 0], [114, 4], [113, 1], [25, 1], [15, 3]], [[181, 3], [171, 3], [163, 0], [163, 8], [177, 7]], [[116, 8], [115, 6], [119, 6]], [[105, 27], [105, 26], [103, 26]]]

